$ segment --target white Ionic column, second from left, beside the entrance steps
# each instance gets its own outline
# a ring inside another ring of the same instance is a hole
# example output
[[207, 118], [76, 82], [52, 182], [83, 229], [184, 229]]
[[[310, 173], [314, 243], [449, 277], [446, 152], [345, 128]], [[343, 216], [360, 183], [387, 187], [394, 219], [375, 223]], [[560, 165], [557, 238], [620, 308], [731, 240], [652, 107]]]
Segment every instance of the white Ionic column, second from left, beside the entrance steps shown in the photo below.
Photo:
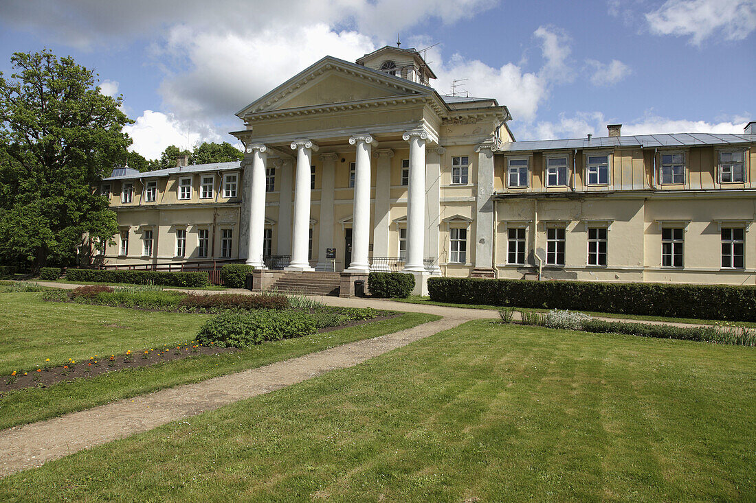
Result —
[[310, 267], [307, 248], [310, 237], [310, 166], [312, 152], [318, 151], [318, 145], [310, 140], [296, 140], [291, 143], [291, 148], [296, 150], [296, 186], [291, 261], [286, 270], [314, 270]]

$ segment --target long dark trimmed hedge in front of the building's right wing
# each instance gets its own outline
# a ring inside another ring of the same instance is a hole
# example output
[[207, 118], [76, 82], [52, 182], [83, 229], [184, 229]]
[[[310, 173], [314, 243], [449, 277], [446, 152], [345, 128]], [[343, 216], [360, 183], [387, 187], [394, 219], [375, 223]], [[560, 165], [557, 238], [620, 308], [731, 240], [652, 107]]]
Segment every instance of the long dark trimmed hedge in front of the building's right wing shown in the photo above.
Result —
[[431, 278], [432, 301], [675, 318], [756, 321], [756, 287]]

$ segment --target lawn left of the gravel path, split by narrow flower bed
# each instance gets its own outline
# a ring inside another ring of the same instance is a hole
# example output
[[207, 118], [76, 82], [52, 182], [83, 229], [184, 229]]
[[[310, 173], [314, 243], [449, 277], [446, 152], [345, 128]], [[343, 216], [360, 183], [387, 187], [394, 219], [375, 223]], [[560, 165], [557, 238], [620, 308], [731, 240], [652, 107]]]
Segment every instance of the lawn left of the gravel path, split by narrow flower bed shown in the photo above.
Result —
[[[88, 360], [95, 353], [104, 356], [125, 353], [127, 349], [157, 347], [164, 342], [175, 344], [194, 338], [206, 319], [206, 315], [197, 314], [146, 313], [117, 307], [55, 304], [39, 300], [36, 297], [38, 294], [16, 295], [0, 296], [3, 307], [0, 326], [3, 326], [5, 319], [10, 321], [7, 329], [0, 329], [0, 364], [4, 369], [11, 366], [8, 360], [17, 367], [20, 363], [37, 362], [40, 358], [44, 362], [42, 356], [27, 355], [25, 348], [29, 347], [34, 355], [54, 354], [55, 359], [51, 357], [50, 362], [54, 365], [60, 359], [66, 363], [70, 357], [77, 361]], [[438, 319], [438, 316], [407, 313], [305, 338], [266, 342], [233, 353], [190, 356], [150, 367], [65, 381], [47, 388], [14, 390], [0, 399], [0, 430], [397, 332], [432, 319]], [[144, 328], [131, 333], [132, 329], [111, 329], [106, 326], [116, 322], [119, 326], [129, 324]], [[100, 350], [101, 347], [107, 350]], [[26, 367], [30, 368], [28, 365]], [[3, 372], [3, 375], [10, 373]]]

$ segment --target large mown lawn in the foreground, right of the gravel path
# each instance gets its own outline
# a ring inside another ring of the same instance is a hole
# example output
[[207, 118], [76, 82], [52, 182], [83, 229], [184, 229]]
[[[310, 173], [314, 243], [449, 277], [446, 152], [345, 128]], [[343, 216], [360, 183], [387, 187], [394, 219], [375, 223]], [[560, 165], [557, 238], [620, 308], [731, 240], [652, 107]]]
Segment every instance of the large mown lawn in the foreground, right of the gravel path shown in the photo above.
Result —
[[0, 480], [4, 501], [746, 501], [756, 350], [466, 323]]

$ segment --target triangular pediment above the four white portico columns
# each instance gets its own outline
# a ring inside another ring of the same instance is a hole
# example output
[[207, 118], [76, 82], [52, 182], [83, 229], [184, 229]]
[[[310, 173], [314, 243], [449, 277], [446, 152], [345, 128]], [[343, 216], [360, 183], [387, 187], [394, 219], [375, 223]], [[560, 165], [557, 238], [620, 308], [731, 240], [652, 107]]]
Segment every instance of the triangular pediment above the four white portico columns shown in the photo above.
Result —
[[267, 113], [335, 103], [432, 94], [432, 88], [356, 65], [324, 57], [292, 79], [250, 103], [237, 113]]

